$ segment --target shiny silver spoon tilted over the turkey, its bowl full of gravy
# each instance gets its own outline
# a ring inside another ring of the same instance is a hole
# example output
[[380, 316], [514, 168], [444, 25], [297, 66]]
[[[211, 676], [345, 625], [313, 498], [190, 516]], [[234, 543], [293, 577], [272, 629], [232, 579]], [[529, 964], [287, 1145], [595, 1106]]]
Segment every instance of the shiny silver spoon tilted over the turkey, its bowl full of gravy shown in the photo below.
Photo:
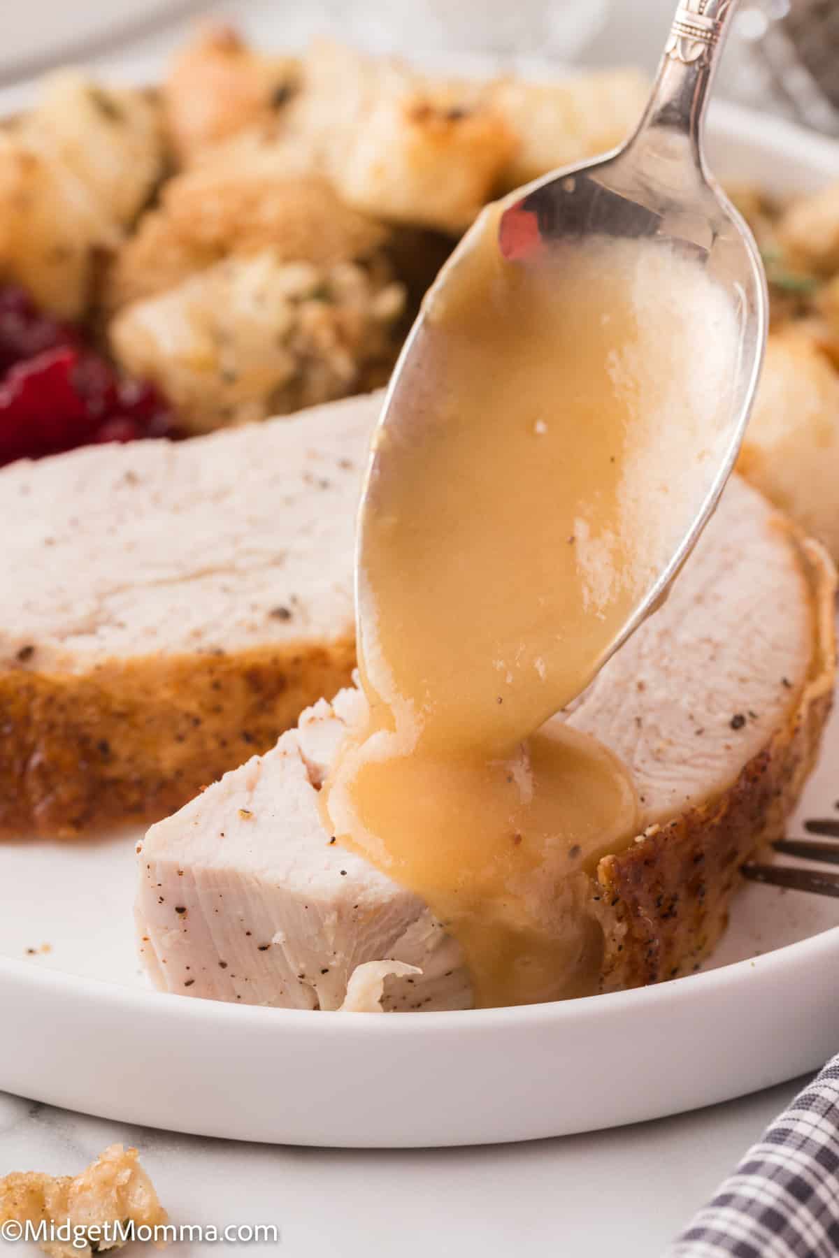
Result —
[[[479, 220], [426, 294], [391, 377], [374, 437], [360, 507], [356, 608], [362, 673], [366, 647], [372, 649], [376, 637], [377, 609], [371, 589], [379, 580], [376, 565], [381, 569], [381, 556], [387, 545], [385, 541], [382, 548], [382, 512], [387, 515], [386, 504], [394, 502], [403, 509], [403, 486], [411, 476], [416, 481], [415, 458], [423, 449], [424, 416], [428, 418], [434, 408], [434, 371], [428, 357], [423, 357], [423, 346], [433, 335], [435, 309], [442, 302], [450, 306], [452, 292], [457, 294], [454, 273], [462, 259], [469, 262], [475, 242], [481, 248], [492, 250], [491, 267], [523, 262], [537, 268], [541, 259], [547, 260], [548, 254], [556, 254], [560, 247], [567, 250], [589, 239], [608, 238], [623, 248], [621, 243], [648, 238], [655, 245], [662, 243], [672, 248], [681, 257], [697, 259], [713, 279], [722, 299], [730, 302], [736, 342], [732, 385], [722, 403], [721, 439], [714, 438], [713, 457], [703, 470], [702, 492], [696, 498], [698, 509], [693, 496], [681, 499], [683, 503], [689, 501], [691, 506], [684, 512], [684, 522], [679, 520], [674, 526], [677, 540], [673, 543], [668, 541], [669, 557], [662, 562], [657, 556], [652, 579], [633, 595], [631, 605], [621, 609], [623, 619], [616, 632], [608, 640], [604, 638], [603, 647], [597, 647], [589, 676], [580, 673], [577, 693], [667, 596], [733, 468], [766, 341], [767, 294], [760, 254], [748, 228], [708, 172], [703, 152], [706, 106], [735, 9], [736, 0], [683, 0], [673, 20], [649, 103], [631, 138], [604, 157], [556, 171], [513, 192], [499, 209], [496, 208], [496, 235], [487, 237], [486, 216], [483, 226]], [[482, 230], [486, 245], [481, 243]], [[460, 267], [460, 273], [468, 267]], [[474, 306], [470, 308], [474, 309]], [[609, 317], [606, 312], [604, 317]], [[475, 332], [475, 337], [479, 336]], [[459, 343], [464, 345], [463, 338]], [[474, 346], [474, 337], [472, 343]], [[731, 338], [726, 343], [731, 343]], [[444, 352], [450, 356], [459, 351], [447, 346]], [[543, 352], [543, 348], [540, 350], [540, 353]], [[438, 474], [447, 474], [445, 463], [438, 465]], [[595, 481], [591, 493], [596, 494], [597, 488]], [[408, 509], [418, 512], [419, 518], [424, 502], [421, 486], [419, 496], [415, 494], [411, 502], [414, 506]], [[433, 564], [434, 556], [421, 556], [420, 569], [425, 572], [430, 571], [425, 567], [426, 559]], [[421, 582], [423, 571], [418, 570], [413, 580]], [[567, 698], [564, 696], [564, 701]], [[547, 715], [541, 713], [542, 718]]]

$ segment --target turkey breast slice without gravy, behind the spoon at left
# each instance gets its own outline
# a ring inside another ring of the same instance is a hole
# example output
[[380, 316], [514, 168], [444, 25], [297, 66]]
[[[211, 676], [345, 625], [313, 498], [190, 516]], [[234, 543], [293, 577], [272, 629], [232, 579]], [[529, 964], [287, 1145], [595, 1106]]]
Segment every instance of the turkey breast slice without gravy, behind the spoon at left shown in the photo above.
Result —
[[156, 821], [348, 684], [380, 403], [0, 469], [0, 833]]

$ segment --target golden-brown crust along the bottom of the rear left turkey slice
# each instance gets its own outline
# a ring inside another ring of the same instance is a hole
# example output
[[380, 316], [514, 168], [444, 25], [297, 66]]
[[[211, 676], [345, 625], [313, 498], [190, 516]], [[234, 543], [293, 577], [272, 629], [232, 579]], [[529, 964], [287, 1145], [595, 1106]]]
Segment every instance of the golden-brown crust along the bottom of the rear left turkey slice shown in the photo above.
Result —
[[158, 820], [350, 681], [352, 635], [0, 674], [0, 833]]

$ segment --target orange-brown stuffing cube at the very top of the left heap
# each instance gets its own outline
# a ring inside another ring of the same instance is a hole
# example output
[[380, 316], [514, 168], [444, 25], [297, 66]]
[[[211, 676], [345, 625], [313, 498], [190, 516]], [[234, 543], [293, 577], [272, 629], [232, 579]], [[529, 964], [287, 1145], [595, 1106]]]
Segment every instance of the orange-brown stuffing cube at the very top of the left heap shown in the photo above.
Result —
[[182, 162], [252, 123], [275, 120], [293, 99], [297, 62], [254, 53], [231, 26], [214, 26], [172, 64], [164, 84], [166, 127]]

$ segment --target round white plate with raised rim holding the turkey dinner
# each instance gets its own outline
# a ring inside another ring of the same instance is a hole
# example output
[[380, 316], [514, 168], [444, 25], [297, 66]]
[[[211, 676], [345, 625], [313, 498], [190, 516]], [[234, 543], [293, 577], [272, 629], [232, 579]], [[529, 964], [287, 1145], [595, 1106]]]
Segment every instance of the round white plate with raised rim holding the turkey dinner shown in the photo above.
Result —
[[[725, 177], [801, 192], [839, 146], [733, 107]], [[790, 827], [839, 818], [839, 717]], [[711, 1105], [839, 1048], [839, 901], [747, 887], [706, 972], [520, 1009], [416, 1016], [243, 1008], [148, 990], [132, 835], [0, 844], [0, 1088], [130, 1123], [335, 1146], [484, 1144]], [[48, 950], [44, 950], [48, 947]], [[31, 951], [30, 951], [31, 950]]]

